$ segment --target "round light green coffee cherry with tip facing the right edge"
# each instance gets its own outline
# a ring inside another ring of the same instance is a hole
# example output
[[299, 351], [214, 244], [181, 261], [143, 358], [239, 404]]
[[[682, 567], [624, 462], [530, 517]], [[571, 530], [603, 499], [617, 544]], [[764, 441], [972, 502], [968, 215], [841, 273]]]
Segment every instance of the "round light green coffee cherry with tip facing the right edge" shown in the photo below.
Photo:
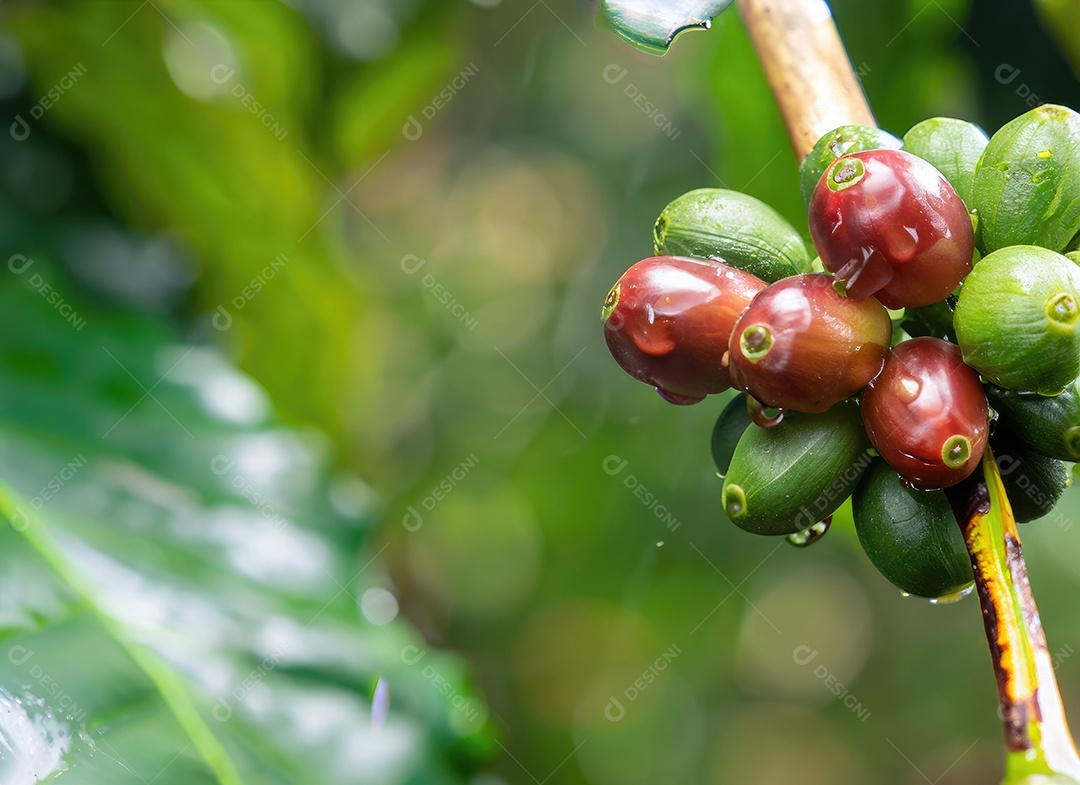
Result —
[[1056, 393], [1080, 375], [1080, 268], [1017, 245], [984, 257], [954, 317], [964, 362], [1009, 390]]

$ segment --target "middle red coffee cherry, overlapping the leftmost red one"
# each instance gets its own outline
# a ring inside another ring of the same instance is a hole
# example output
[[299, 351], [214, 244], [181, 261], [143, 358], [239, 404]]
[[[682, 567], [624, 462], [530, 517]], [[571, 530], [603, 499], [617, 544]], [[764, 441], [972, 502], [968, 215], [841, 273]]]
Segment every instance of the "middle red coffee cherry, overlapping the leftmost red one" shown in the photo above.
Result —
[[825, 411], [878, 375], [892, 322], [874, 299], [838, 295], [825, 273], [762, 289], [731, 333], [732, 387], [768, 406]]

